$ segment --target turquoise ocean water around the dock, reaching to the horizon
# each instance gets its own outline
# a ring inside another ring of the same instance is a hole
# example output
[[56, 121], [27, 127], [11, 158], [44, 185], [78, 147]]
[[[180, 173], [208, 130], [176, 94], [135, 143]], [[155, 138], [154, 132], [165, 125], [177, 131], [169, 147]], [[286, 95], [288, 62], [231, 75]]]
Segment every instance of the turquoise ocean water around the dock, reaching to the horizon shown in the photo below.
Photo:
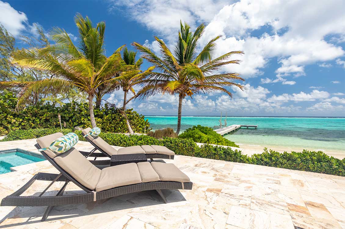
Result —
[[[145, 118], [154, 130], [177, 128], [177, 116]], [[219, 119], [220, 117], [184, 116], [181, 118], [181, 131], [198, 124], [214, 127], [219, 125]], [[222, 122], [224, 124], [224, 117]], [[227, 117], [227, 126], [233, 124], [258, 125], [256, 130], [240, 129], [225, 135], [225, 138], [235, 143], [345, 152], [345, 118]]]

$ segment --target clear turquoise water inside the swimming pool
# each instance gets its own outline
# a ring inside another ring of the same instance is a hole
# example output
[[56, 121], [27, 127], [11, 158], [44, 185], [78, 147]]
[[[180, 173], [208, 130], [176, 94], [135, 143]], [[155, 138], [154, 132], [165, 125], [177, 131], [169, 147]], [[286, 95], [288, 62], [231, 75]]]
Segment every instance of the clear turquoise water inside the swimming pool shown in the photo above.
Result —
[[21, 152], [0, 153], [0, 174], [11, 172], [10, 168], [19, 165], [26, 165], [45, 159], [31, 156]]

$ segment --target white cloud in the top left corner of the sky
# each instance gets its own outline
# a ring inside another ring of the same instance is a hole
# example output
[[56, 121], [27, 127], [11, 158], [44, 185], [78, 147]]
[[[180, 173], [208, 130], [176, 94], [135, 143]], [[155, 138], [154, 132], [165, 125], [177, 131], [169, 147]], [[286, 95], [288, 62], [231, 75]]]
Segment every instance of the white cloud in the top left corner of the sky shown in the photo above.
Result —
[[13, 36], [26, 29], [28, 18], [25, 13], [15, 10], [7, 2], [0, 1], [0, 23]]

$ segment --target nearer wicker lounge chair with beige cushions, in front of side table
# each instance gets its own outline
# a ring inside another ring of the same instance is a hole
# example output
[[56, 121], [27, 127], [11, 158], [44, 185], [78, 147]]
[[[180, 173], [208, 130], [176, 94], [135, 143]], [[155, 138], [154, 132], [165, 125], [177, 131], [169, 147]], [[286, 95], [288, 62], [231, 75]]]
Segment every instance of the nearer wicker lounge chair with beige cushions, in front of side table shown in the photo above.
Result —
[[[38, 149], [47, 148], [62, 133], [50, 134], [37, 139]], [[42, 221], [46, 220], [54, 206], [80, 204], [107, 199], [127, 193], [156, 190], [167, 203], [161, 189], [192, 189], [193, 183], [174, 164], [140, 162], [106, 167], [100, 170], [77, 149], [56, 154], [51, 150], [41, 152], [60, 174], [37, 173], [28, 183], [1, 201], [1, 206], [48, 206]], [[38, 196], [20, 196], [34, 181], [51, 181]], [[56, 181], [65, 182], [56, 196], [42, 196]], [[63, 196], [69, 182], [75, 183], [85, 194]]]

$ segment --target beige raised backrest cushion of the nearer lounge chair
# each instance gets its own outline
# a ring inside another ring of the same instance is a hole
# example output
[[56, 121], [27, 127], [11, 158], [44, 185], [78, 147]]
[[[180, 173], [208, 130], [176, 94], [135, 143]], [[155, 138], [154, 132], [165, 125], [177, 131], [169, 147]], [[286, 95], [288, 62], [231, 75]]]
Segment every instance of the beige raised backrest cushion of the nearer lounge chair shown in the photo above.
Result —
[[[49, 146], [52, 141], [61, 137], [61, 135], [63, 134], [50, 134], [37, 139], [37, 143], [41, 148], [45, 148], [47, 145]], [[63, 170], [69, 173], [80, 184], [89, 189], [95, 190], [101, 176], [101, 170], [89, 162], [89, 160], [87, 160], [77, 149], [73, 147], [65, 153], [60, 154], [49, 151], [50, 150], [45, 150], [44, 152], [51, 157]]]

